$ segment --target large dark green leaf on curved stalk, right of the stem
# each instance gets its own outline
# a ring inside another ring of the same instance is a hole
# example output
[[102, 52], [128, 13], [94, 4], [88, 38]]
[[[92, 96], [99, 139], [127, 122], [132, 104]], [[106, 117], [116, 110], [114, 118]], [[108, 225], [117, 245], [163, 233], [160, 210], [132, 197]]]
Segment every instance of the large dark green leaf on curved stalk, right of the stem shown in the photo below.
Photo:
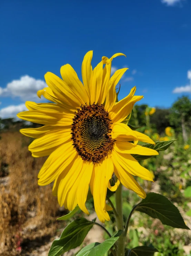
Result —
[[135, 208], [144, 212], [152, 218], [159, 219], [163, 224], [174, 227], [189, 229], [178, 210], [165, 196], [156, 193], [149, 193]]

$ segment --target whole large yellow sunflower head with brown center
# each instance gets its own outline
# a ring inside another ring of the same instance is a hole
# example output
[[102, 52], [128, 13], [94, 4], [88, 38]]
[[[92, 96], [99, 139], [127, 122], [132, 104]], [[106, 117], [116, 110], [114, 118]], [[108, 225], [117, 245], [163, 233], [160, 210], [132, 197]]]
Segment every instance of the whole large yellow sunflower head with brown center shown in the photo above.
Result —
[[[69, 64], [61, 67], [63, 80], [46, 73], [48, 87], [37, 95], [53, 103], [27, 101], [29, 111], [17, 115], [44, 125], [20, 130], [35, 138], [29, 145], [33, 157], [49, 156], [39, 172], [38, 184], [44, 186], [54, 181], [53, 195], [58, 196], [59, 204], [70, 211], [79, 205], [87, 214], [85, 203], [90, 187], [101, 222], [110, 220], [107, 188], [115, 191], [121, 182], [141, 198], [146, 196], [133, 176], [152, 180], [152, 174], [131, 154], [158, 155], [157, 151], [138, 145], [139, 141], [154, 144], [147, 135], [122, 123], [143, 96], [134, 96], [133, 87], [128, 96], [116, 102], [115, 87], [127, 68], [111, 76], [111, 62], [121, 55], [124, 54], [114, 54], [110, 59], [102, 57], [92, 70], [93, 51], [89, 51], [82, 62], [83, 84]], [[113, 173], [117, 181], [112, 186]]]

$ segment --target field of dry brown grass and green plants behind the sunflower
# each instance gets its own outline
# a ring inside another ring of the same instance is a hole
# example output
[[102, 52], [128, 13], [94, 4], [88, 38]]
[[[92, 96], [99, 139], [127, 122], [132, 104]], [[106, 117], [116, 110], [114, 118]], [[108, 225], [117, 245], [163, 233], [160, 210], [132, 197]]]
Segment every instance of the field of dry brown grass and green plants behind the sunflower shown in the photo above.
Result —
[[[177, 138], [168, 150], [160, 155], [142, 160], [141, 164], [148, 168], [154, 178], [154, 183], [137, 179], [146, 193], [160, 193], [169, 198], [182, 214], [188, 227], [191, 228], [191, 142], [189, 122], [186, 123], [187, 141], [180, 124], [166, 129], [170, 125], [168, 118], [162, 120], [163, 126], [157, 124], [160, 109], [148, 114], [137, 107], [132, 112], [131, 125], [145, 125], [138, 131], [148, 133], [155, 141]], [[140, 113], [140, 111], [142, 111]], [[137, 116], [140, 116], [138, 118]], [[145, 121], [144, 121], [145, 120]], [[166, 123], [165, 123], [166, 122]], [[58, 221], [58, 217], [67, 214], [61, 208], [57, 198], [52, 195], [52, 186], [37, 185], [37, 175], [46, 158], [33, 158], [28, 151], [32, 141], [18, 131], [17, 125], [6, 127], [4, 124], [0, 139], [0, 255], [48, 255], [51, 242], [58, 237], [67, 221]], [[110, 198], [114, 203], [113, 196]], [[123, 189], [124, 219], [127, 219], [132, 206], [139, 202], [139, 197]], [[89, 218], [93, 219], [93, 201], [87, 202], [90, 210]], [[116, 227], [111, 221], [105, 223], [110, 233]], [[83, 215], [77, 212], [77, 216]], [[85, 216], [85, 214], [84, 214]], [[87, 218], [87, 215], [85, 216]], [[138, 245], [150, 245], [161, 252], [161, 256], [190, 255], [191, 231], [173, 229], [163, 225], [159, 220], [145, 214], [134, 213], [129, 229], [130, 248]], [[84, 243], [102, 241], [107, 238], [99, 229], [93, 228]], [[66, 253], [75, 255], [79, 248]], [[64, 254], [65, 255], [65, 254]]]

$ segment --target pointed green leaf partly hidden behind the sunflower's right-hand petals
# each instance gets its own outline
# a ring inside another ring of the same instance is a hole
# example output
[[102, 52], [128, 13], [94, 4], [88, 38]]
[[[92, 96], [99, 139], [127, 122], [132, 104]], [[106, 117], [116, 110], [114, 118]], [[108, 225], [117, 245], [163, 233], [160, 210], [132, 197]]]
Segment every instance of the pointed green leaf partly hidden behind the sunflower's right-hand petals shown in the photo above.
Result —
[[[177, 139], [175, 139], [177, 140]], [[141, 145], [142, 147], [145, 147], [145, 148], [150, 148], [150, 149], [154, 149], [154, 150], [157, 150], [157, 151], [164, 151], [166, 149], [168, 149], [168, 147], [175, 141], [175, 140], [168, 140], [168, 141], [156, 141], [155, 145], [154, 144], [149, 144], [149, 143], [146, 143], [146, 144], [143, 144]], [[150, 158], [150, 157], [153, 157], [153, 156], [140, 156], [140, 155], [135, 155], [135, 154], [132, 154], [132, 156], [136, 159], [136, 160], [144, 160], [144, 159], [147, 159], [147, 158]]]

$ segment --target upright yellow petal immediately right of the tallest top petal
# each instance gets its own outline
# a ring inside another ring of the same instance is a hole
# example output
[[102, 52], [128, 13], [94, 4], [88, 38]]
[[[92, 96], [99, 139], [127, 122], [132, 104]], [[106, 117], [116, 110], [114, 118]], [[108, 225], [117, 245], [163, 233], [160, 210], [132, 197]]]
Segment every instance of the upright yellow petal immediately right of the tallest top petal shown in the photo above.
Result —
[[103, 62], [101, 61], [94, 69], [90, 79], [90, 92], [91, 92], [91, 101], [90, 103], [97, 103], [102, 85], [102, 76], [103, 76]]

